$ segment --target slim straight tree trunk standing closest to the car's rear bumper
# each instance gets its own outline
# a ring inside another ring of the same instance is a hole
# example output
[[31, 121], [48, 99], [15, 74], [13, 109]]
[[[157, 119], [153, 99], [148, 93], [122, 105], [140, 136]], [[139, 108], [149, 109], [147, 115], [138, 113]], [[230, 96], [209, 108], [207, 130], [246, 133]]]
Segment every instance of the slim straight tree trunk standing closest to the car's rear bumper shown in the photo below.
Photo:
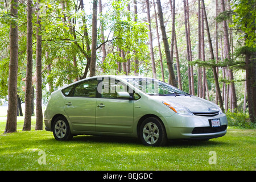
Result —
[[43, 111], [42, 111], [42, 35], [41, 18], [39, 14], [40, 0], [38, 0], [38, 15], [36, 28], [36, 126], [35, 130], [43, 130]]

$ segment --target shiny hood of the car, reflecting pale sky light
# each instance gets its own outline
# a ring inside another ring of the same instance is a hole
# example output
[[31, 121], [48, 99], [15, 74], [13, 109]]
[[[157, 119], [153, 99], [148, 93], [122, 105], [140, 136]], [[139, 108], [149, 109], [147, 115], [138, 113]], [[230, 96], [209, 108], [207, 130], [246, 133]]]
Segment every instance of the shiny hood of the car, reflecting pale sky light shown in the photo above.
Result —
[[169, 101], [187, 107], [192, 113], [211, 113], [220, 110], [216, 104], [196, 96], [151, 96], [161, 101]]

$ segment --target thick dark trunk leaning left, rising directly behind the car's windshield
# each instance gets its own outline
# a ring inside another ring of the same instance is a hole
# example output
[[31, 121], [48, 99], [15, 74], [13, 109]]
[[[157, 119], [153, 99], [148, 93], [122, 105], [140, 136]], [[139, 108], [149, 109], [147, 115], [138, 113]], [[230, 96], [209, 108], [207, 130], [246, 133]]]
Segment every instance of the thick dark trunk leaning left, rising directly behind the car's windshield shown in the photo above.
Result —
[[167, 39], [167, 35], [166, 35], [166, 27], [164, 26], [161, 2], [160, 2], [160, 0], [157, 0], [156, 3], [158, 5], [158, 15], [159, 15], [160, 28], [162, 31], [164, 51], [166, 52], [166, 61], [167, 61], [167, 67], [168, 67], [168, 71], [169, 71], [169, 84], [171, 84], [173, 86], [177, 86], [175, 75], [174, 75], [174, 68], [172, 67], [173, 63], [171, 61], [170, 48], [169, 48], [168, 39]]

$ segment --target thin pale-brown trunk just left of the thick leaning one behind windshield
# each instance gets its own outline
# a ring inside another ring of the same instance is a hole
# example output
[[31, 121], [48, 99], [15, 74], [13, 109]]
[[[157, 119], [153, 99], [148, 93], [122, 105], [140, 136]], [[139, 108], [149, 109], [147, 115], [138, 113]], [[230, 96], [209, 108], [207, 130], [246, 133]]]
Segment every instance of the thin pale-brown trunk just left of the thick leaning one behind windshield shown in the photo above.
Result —
[[154, 57], [153, 42], [152, 42], [149, 0], [146, 0], [146, 8], [147, 8], [148, 38], [149, 38], [149, 44], [150, 44], [150, 59], [151, 59], [151, 65], [152, 65], [153, 78], [156, 78], [155, 57]]

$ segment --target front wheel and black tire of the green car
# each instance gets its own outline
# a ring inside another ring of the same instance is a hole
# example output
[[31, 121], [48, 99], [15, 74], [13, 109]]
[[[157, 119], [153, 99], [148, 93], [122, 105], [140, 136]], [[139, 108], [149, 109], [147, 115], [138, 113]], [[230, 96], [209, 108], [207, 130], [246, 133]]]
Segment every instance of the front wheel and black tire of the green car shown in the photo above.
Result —
[[166, 129], [159, 119], [150, 117], [142, 122], [139, 138], [146, 146], [164, 146], [167, 142]]

